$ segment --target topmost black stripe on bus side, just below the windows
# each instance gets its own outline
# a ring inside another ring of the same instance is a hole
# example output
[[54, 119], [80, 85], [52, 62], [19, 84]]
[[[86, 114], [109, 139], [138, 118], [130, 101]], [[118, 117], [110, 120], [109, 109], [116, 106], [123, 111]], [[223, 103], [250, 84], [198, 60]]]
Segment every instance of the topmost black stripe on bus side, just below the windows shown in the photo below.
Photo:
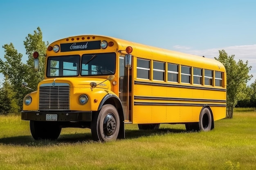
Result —
[[181, 88], [192, 88], [192, 89], [203, 89], [203, 90], [213, 90], [213, 91], [227, 91], [226, 89], [220, 88], [211, 88], [211, 87], [200, 87], [200, 86], [186, 86], [180, 84], [164, 84], [164, 83], [156, 83], [156, 82], [139, 82], [135, 81], [134, 84], [143, 84], [143, 85], [151, 85], [151, 86], [168, 86], [168, 87], [181, 87]]

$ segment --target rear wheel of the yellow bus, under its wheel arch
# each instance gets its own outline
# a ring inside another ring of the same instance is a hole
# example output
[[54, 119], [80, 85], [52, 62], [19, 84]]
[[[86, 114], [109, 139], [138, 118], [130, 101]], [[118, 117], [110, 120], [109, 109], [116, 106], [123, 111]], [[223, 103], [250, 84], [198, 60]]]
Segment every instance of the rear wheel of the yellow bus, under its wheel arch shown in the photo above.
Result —
[[200, 113], [199, 117], [199, 127], [201, 131], [207, 132], [210, 131], [213, 127], [213, 119], [211, 115], [211, 111], [209, 108], [204, 108]]

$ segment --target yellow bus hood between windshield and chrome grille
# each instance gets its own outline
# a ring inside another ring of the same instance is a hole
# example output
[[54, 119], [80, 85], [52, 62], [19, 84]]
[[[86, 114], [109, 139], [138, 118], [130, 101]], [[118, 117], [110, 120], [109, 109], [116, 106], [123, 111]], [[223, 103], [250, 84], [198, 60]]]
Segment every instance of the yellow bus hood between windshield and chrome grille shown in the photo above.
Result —
[[45, 79], [38, 84], [38, 88], [43, 86], [59, 86], [61, 83], [67, 83], [70, 88], [91, 88], [90, 83], [96, 83], [96, 88], [111, 88], [110, 81], [103, 78], [91, 78], [91, 77], [61, 77], [54, 79]]

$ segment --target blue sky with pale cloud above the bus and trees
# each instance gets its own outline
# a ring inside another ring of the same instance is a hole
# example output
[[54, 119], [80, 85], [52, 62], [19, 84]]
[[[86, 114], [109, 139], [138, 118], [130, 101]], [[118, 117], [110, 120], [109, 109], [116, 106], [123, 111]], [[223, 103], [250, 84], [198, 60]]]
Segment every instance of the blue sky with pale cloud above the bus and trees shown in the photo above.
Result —
[[249, 61], [250, 84], [256, 79], [255, 9], [255, 0], [5, 0], [0, 45], [13, 43], [26, 62], [23, 41], [39, 26], [49, 43], [94, 34], [210, 58], [224, 49]]

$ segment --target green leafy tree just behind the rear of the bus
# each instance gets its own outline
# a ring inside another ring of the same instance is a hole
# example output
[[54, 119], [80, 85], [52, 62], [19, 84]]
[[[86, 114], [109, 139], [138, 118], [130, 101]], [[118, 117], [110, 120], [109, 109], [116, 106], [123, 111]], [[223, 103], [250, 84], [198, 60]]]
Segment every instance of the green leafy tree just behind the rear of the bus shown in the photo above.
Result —
[[225, 50], [219, 51], [219, 57], [215, 59], [220, 61], [227, 72], [227, 118], [233, 118], [234, 106], [239, 100], [246, 98], [246, 83], [252, 78], [249, 71], [252, 66], [248, 66], [248, 61], [234, 60], [235, 55], [228, 56]]

